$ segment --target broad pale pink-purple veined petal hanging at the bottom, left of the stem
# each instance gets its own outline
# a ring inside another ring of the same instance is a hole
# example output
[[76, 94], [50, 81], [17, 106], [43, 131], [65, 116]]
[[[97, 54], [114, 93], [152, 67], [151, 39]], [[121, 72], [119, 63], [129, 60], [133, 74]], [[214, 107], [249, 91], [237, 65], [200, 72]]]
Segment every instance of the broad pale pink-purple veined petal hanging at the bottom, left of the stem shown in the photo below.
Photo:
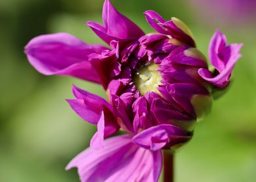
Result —
[[104, 148], [86, 149], [67, 165], [76, 167], [82, 182], [157, 182], [162, 168], [161, 151], [140, 148], [131, 136], [121, 135], [104, 141]]

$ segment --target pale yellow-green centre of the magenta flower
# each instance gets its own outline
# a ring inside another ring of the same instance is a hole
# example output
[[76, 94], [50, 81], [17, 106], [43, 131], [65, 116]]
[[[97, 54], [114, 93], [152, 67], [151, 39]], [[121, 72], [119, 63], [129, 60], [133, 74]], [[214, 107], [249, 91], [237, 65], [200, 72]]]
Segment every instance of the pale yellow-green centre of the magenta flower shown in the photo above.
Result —
[[147, 92], [157, 92], [158, 86], [161, 85], [162, 77], [160, 72], [157, 71], [159, 65], [153, 62], [147, 66], [143, 66], [138, 70], [133, 80], [135, 81], [136, 88], [140, 91], [140, 94], [145, 95]]

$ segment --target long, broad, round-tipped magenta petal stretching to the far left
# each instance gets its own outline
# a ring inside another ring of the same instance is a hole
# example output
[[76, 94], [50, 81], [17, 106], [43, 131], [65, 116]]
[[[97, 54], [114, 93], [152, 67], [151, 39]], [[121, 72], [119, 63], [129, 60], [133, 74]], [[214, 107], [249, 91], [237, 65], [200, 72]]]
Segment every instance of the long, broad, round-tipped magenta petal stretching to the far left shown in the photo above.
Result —
[[44, 75], [71, 75], [101, 83], [88, 55], [104, 49], [108, 48], [88, 45], [67, 33], [56, 33], [33, 38], [25, 46], [25, 54], [32, 66]]

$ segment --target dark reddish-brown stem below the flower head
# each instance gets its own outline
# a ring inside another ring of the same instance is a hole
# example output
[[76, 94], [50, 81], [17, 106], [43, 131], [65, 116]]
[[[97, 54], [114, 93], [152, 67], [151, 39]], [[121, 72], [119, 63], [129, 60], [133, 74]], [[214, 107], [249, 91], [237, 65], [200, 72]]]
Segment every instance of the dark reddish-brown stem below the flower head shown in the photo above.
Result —
[[174, 182], [174, 153], [163, 152], [163, 181]]

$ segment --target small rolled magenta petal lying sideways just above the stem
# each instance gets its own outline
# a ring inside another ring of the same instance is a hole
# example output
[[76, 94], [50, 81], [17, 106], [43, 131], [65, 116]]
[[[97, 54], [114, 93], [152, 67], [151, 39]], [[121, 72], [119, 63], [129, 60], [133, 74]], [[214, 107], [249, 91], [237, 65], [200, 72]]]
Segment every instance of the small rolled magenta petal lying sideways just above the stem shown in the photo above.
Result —
[[150, 127], [149, 129], [138, 133], [133, 137], [133, 142], [142, 148], [156, 151], [165, 146], [170, 148], [176, 144], [187, 142], [190, 137], [191, 136], [180, 127], [163, 124]]

